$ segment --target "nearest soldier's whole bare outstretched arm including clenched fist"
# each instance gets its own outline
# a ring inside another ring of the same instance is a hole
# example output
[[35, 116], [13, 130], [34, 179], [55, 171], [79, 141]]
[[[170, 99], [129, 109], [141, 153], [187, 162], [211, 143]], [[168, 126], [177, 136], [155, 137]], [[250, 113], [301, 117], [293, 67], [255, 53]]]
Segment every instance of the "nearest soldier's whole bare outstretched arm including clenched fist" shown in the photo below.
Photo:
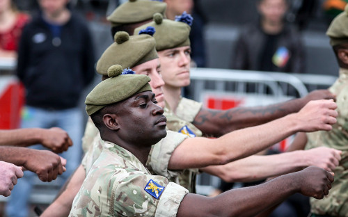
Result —
[[226, 191], [214, 198], [188, 194], [177, 216], [254, 216], [294, 193], [322, 199], [329, 193], [333, 175], [310, 167], [248, 188]]

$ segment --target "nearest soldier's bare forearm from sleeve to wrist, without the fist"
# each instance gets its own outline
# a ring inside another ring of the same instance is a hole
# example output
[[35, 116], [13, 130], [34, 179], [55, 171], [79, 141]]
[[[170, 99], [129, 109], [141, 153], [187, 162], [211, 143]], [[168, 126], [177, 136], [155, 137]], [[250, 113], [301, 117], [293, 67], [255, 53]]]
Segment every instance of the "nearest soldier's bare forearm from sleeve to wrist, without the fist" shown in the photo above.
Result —
[[[189, 194], [180, 204], [177, 216], [253, 216], [295, 192], [290, 177], [279, 177], [258, 186], [226, 191], [215, 198]], [[193, 202], [195, 206], [186, 207]]]

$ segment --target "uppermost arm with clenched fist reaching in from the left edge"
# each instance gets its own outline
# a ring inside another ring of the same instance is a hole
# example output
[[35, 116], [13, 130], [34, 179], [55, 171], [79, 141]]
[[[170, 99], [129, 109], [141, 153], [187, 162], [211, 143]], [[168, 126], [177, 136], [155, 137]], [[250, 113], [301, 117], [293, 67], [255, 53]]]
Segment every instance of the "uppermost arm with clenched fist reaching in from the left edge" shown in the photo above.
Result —
[[72, 140], [66, 131], [58, 127], [0, 130], [0, 145], [27, 147], [35, 144], [42, 144], [56, 153], [61, 153], [68, 150]]

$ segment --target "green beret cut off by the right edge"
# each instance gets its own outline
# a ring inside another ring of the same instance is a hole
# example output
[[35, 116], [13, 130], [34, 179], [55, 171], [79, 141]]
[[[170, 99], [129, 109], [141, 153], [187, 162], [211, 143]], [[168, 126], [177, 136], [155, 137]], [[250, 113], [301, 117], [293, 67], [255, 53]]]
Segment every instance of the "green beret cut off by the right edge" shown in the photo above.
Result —
[[326, 35], [330, 37], [331, 46], [348, 43], [348, 5], [345, 11], [333, 19]]

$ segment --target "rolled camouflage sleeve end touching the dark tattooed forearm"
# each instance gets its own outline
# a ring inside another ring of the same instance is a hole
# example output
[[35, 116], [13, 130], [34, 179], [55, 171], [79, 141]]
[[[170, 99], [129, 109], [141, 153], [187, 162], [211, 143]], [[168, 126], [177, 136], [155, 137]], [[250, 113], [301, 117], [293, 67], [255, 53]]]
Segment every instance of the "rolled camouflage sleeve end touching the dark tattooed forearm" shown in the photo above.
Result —
[[179, 118], [182, 118], [182, 120], [193, 122], [202, 106], [203, 104], [200, 102], [182, 97], [179, 105], [177, 106], [176, 115]]

